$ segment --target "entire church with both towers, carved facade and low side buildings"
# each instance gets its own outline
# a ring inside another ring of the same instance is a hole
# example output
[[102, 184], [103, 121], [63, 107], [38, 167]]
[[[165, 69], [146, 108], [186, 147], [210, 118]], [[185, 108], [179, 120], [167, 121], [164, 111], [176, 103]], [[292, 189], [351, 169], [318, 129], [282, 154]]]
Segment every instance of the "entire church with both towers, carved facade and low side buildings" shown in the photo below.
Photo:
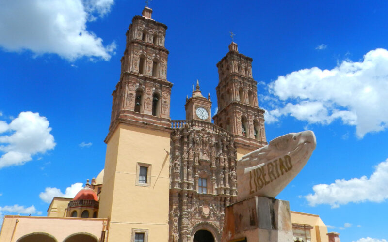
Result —
[[[77, 199], [54, 198], [49, 217], [64, 220], [50, 221], [46, 230], [38, 226], [32, 232], [29, 223], [16, 233], [16, 220], [28, 218], [6, 216], [0, 242], [33, 241], [28, 236], [39, 231], [45, 233], [41, 240], [49, 234], [55, 239], [51, 241], [65, 242], [221, 241], [225, 208], [237, 201], [238, 160], [267, 144], [252, 59], [232, 42], [217, 63], [218, 112], [211, 116], [210, 95], [203, 96], [197, 82], [186, 99], [186, 119], [170, 120], [167, 26], [151, 15], [146, 7], [126, 33], [120, 80], [112, 94], [105, 167], [97, 177], [102, 181], [92, 180]], [[32, 224], [44, 221], [33, 218]], [[328, 242], [319, 216], [291, 212], [291, 219], [295, 241]], [[57, 223], [62, 232], [74, 231], [58, 240], [49, 232]], [[82, 225], [95, 230], [82, 233]]]

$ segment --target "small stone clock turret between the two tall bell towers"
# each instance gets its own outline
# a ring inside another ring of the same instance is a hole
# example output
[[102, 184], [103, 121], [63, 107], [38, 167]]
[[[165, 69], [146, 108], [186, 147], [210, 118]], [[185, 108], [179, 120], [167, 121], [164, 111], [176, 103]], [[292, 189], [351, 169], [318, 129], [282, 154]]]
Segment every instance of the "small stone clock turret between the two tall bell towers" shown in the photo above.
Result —
[[187, 120], [200, 120], [211, 122], [211, 100], [210, 93], [208, 98], [202, 96], [201, 90], [199, 89], [199, 81], [194, 90], [192, 97], [186, 100], [186, 119]]

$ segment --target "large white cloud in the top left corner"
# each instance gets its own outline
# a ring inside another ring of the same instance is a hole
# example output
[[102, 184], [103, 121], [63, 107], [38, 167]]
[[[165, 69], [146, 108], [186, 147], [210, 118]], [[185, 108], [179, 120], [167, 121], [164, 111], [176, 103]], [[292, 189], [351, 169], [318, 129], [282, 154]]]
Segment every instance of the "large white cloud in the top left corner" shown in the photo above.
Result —
[[95, 13], [109, 13], [112, 5], [113, 0], [6, 0], [0, 8], [0, 46], [69, 61], [83, 56], [109, 60], [115, 43], [104, 46], [86, 23], [97, 19]]

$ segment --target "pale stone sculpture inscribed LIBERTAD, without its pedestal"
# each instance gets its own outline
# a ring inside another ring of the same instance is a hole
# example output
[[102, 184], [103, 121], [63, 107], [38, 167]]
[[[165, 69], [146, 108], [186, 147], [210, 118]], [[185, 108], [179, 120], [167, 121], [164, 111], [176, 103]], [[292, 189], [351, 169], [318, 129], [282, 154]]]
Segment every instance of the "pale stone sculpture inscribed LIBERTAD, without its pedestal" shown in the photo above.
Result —
[[277, 137], [239, 160], [238, 199], [275, 198], [302, 170], [316, 146], [312, 131]]

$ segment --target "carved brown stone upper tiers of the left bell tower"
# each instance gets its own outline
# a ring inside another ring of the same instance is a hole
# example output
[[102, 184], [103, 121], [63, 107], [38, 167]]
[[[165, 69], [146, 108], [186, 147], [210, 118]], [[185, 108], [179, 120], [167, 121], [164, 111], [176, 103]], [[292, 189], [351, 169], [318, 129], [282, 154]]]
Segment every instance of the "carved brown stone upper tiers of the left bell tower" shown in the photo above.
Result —
[[110, 129], [119, 121], [140, 121], [170, 127], [170, 94], [167, 81], [167, 26], [151, 19], [152, 9], [135, 16], [126, 33], [120, 81], [113, 91]]

